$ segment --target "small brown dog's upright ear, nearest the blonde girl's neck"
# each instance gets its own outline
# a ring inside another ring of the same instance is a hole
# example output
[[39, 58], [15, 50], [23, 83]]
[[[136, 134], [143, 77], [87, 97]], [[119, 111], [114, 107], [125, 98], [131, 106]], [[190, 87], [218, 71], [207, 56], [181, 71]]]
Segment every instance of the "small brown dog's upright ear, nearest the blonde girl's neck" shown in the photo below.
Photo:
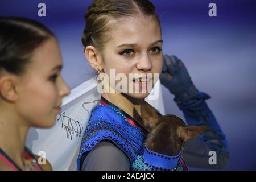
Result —
[[144, 126], [152, 129], [158, 123], [159, 117], [160, 115], [156, 113], [154, 107], [144, 100], [141, 102], [141, 118]]

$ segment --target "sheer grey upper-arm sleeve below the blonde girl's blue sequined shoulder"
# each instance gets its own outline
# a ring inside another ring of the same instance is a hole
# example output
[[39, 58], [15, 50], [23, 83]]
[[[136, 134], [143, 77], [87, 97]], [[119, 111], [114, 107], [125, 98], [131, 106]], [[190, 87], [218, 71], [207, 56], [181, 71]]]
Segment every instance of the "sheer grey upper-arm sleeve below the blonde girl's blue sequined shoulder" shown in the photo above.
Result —
[[82, 155], [81, 171], [130, 171], [130, 160], [113, 143], [102, 141]]

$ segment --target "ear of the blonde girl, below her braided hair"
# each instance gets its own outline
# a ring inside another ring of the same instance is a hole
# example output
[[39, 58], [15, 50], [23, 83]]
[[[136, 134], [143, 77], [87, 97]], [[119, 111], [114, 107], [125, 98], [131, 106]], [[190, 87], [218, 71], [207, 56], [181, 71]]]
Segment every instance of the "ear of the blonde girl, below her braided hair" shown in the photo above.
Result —
[[103, 60], [95, 47], [87, 46], [85, 48], [85, 56], [92, 68], [96, 69], [96, 71], [102, 71]]

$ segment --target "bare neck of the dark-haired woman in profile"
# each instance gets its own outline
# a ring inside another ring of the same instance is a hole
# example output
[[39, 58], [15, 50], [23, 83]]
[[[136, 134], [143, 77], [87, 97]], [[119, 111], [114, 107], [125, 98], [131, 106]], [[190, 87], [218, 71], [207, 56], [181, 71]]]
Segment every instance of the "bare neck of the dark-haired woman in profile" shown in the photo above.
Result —
[[0, 148], [21, 169], [24, 169], [24, 147], [29, 127], [22, 125], [18, 115], [11, 109], [2, 108], [0, 111]]

